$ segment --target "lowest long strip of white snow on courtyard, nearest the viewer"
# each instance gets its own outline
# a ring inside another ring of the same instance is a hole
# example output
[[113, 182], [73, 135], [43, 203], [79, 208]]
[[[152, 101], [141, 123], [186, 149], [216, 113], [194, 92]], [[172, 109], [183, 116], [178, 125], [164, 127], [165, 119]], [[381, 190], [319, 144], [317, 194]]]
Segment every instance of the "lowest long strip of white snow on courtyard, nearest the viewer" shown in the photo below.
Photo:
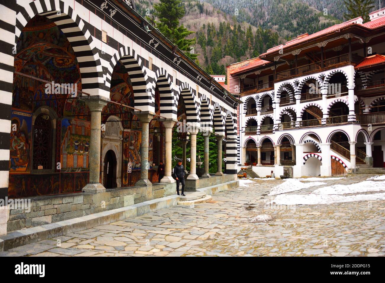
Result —
[[357, 194], [355, 196], [340, 196], [336, 194], [280, 194], [273, 201], [271, 201], [271, 203], [275, 203], [278, 205], [331, 204], [374, 200], [385, 200], [385, 193]]

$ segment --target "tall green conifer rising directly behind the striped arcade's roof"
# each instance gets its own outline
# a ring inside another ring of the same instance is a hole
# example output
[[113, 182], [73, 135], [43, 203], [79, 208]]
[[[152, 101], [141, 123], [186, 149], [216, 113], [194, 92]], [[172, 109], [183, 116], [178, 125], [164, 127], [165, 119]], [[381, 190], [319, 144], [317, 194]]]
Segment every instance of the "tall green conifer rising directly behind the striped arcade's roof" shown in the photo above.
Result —
[[197, 60], [197, 54], [191, 52], [191, 47], [196, 43], [196, 39], [186, 39], [188, 35], [194, 33], [189, 31], [184, 25], [179, 26], [179, 21], [184, 16], [185, 10], [181, 0], [159, 0], [154, 4], [154, 16], [158, 18], [156, 27], [172, 43], [192, 60]]

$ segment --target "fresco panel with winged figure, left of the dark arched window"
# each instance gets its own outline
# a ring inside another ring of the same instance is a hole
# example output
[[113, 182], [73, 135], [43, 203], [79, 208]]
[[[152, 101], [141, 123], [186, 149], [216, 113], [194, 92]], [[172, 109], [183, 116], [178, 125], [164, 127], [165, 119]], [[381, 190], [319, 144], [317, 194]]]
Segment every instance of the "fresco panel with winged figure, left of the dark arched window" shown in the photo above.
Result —
[[10, 135], [10, 173], [30, 171], [32, 113], [12, 110]]

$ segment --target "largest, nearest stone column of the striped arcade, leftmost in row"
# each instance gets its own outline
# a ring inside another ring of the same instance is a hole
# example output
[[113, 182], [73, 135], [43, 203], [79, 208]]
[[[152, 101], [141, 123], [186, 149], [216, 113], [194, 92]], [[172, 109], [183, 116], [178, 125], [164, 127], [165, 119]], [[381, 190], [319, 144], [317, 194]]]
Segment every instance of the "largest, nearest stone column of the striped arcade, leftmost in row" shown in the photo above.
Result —
[[105, 188], [100, 184], [100, 134], [102, 109], [108, 99], [99, 95], [83, 98], [91, 112], [90, 148], [88, 152], [90, 178], [89, 183], [82, 189], [85, 193], [103, 193]]

